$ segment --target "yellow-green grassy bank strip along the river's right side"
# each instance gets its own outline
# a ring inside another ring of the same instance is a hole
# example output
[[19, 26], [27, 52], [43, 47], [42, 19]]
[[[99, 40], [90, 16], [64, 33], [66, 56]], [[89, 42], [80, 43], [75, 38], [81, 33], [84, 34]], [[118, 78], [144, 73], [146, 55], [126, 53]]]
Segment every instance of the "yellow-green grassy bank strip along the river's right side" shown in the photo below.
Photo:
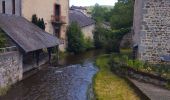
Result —
[[94, 78], [97, 100], [140, 100], [134, 89], [122, 78], [113, 74], [108, 66], [109, 55], [100, 56], [96, 65], [100, 69]]

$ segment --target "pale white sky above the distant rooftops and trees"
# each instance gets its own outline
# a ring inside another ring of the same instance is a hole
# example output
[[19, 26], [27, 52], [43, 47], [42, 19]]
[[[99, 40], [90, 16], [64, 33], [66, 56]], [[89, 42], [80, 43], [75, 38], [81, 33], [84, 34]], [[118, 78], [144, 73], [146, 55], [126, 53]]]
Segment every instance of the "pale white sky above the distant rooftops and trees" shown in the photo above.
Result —
[[99, 5], [113, 6], [117, 0], [70, 0], [70, 6], [91, 6], [98, 3]]

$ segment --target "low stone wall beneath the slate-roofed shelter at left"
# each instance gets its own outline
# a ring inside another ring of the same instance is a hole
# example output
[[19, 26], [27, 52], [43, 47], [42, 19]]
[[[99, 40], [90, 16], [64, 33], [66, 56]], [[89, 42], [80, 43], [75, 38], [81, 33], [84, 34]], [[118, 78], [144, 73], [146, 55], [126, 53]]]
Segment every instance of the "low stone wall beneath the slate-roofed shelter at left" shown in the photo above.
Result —
[[22, 55], [18, 51], [0, 54], [0, 88], [22, 79]]

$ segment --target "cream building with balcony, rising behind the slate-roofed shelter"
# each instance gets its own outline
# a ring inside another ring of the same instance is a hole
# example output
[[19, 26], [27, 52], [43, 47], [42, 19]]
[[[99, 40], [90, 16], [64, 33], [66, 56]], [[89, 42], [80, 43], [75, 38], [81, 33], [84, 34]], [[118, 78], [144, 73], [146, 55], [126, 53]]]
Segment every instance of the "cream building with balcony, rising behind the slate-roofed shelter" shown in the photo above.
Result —
[[43, 18], [46, 32], [60, 40], [60, 50], [66, 47], [69, 0], [0, 0], [0, 13], [14, 14], [31, 21], [32, 15]]

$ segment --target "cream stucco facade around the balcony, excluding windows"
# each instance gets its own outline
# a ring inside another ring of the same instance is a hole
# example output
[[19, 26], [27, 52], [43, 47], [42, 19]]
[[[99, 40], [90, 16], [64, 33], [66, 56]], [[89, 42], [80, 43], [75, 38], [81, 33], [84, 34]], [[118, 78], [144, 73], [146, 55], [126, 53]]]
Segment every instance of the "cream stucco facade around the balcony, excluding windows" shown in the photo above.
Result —
[[[52, 16], [55, 16], [55, 5], [60, 5], [60, 20], [64, 21], [60, 25], [60, 38], [62, 43], [60, 50], [64, 51], [66, 47], [66, 29], [68, 25], [68, 10], [69, 0], [23, 0], [22, 1], [22, 16], [31, 20], [32, 15], [36, 14], [38, 18], [43, 18], [48, 33], [55, 35], [55, 25], [52, 24]], [[30, 9], [31, 8], [31, 9]], [[58, 27], [58, 26], [57, 26]]]

